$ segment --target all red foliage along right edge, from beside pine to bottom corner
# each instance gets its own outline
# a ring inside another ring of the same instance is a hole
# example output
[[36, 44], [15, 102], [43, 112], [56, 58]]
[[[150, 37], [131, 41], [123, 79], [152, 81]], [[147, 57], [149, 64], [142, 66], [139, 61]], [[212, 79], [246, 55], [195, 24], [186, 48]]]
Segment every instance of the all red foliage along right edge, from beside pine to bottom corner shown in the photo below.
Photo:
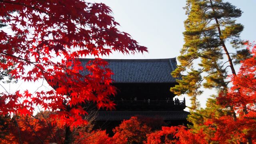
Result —
[[233, 86], [218, 98], [220, 104], [232, 106], [237, 113], [237, 120], [227, 117], [218, 120], [220, 133], [232, 133], [240, 142], [256, 139], [256, 45], [247, 46], [252, 57], [241, 61], [238, 74], [230, 76]]

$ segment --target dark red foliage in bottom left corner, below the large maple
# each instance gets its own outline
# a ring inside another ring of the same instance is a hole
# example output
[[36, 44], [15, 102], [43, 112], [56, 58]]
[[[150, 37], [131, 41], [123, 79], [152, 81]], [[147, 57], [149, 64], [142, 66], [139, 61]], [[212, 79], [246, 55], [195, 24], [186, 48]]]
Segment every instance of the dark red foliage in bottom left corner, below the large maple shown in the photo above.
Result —
[[[13, 116], [8, 123], [8, 134], [1, 143], [6, 144], [24, 144], [31, 143], [61, 143], [61, 137], [64, 136], [63, 130], [58, 130], [56, 125], [50, 124], [49, 112], [43, 112], [36, 116]], [[60, 135], [59, 135], [59, 134]]]

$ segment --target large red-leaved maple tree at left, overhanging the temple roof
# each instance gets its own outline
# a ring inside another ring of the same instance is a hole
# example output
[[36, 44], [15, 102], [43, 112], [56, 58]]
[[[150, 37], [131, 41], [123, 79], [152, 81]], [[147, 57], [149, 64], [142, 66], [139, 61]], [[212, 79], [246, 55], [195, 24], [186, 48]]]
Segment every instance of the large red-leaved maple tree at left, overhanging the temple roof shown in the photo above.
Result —
[[[110, 85], [107, 62], [96, 58], [84, 68], [76, 58], [93, 55], [147, 52], [111, 16], [105, 4], [80, 0], [0, 0], [0, 67], [15, 80], [36, 82], [46, 79], [55, 88], [31, 93], [7, 91], [0, 95], [0, 114], [32, 114], [35, 106], [54, 112], [66, 126], [65, 143], [70, 143], [72, 128], [86, 124], [81, 104], [95, 102], [98, 108], [113, 109], [108, 98], [115, 94]], [[14, 68], [12, 68], [14, 67]], [[87, 75], [79, 70], [88, 71]]]

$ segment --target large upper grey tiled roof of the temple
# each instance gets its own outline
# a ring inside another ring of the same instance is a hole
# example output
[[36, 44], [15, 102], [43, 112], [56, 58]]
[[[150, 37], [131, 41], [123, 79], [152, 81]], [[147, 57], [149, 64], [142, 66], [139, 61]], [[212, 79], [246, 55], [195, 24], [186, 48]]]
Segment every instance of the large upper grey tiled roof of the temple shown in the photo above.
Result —
[[[80, 59], [83, 66], [92, 59]], [[167, 59], [105, 59], [114, 75], [114, 83], [175, 83], [171, 72], [177, 67], [176, 58]], [[81, 72], [86, 75], [88, 72]]]

